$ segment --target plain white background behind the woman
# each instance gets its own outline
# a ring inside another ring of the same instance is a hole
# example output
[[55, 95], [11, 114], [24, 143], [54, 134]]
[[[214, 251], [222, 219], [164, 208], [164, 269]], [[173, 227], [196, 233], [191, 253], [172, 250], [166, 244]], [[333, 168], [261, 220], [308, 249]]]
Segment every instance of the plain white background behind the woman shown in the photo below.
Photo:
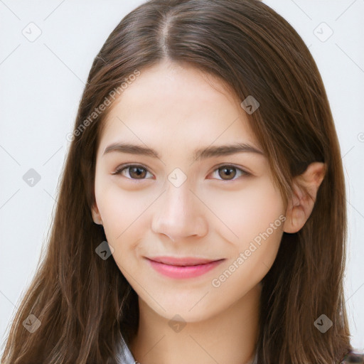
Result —
[[[65, 136], [73, 130], [92, 60], [142, 2], [0, 0], [1, 342], [46, 242], [69, 145]], [[264, 2], [309, 46], [328, 93], [348, 192], [346, 305], [352, 345], [363, 350], [364, 0]], [[31, 22], [42, 32], [33, 42], [22, 33]], [[322, 22], [333, 31], [326, 41], [330, 30]], [[23, 181], [30, 168], [41, 175], [33, 187]]]

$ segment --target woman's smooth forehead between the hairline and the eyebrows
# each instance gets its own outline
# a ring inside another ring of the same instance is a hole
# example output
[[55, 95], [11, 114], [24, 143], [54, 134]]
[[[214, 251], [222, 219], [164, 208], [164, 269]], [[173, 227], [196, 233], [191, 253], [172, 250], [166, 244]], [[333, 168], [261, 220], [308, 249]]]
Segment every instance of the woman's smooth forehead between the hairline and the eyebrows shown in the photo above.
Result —
[[111, 107], [101, 152], [119, 140], [179, 150], [215, 141], [259, 148], [235, 94], [192, 66], [164, 62], [141, 70]]

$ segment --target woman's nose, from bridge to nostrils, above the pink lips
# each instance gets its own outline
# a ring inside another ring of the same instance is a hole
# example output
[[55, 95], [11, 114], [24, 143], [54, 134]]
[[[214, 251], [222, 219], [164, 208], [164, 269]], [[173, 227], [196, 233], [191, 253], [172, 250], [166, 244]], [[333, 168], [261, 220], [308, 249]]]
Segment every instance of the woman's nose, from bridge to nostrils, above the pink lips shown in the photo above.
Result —
[[167, 183], [164, 196], [155, 206], [152, 230], [168, 236], [173, 242], [203, 237], [208, 233], [207, 210], [188, 183], [179, 187]]

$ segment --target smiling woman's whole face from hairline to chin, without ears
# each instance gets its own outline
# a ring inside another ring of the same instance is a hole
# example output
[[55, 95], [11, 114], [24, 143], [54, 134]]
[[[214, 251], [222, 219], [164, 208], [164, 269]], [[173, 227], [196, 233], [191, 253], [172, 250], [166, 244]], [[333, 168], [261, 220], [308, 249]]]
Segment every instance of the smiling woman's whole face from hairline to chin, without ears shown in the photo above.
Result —
[[277, 255], [284, 203], [240, 101], [212, 76], [160, 63], [110, 111], [92, 210], [108, 259], [166, 319], [208, 319], [244, 299]]

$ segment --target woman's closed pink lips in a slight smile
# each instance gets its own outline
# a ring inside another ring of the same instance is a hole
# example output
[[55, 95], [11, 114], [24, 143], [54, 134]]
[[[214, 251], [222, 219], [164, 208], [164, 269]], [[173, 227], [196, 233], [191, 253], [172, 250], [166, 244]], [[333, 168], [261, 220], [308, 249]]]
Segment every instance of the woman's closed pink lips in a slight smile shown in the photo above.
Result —
[[157, 272], [171, 278], [198, 277], [215, 268], [218, 264], [225, 260], [210, 260], [193, 257], [153, 257], [146, 259], [148, 259], [151, 267]]

